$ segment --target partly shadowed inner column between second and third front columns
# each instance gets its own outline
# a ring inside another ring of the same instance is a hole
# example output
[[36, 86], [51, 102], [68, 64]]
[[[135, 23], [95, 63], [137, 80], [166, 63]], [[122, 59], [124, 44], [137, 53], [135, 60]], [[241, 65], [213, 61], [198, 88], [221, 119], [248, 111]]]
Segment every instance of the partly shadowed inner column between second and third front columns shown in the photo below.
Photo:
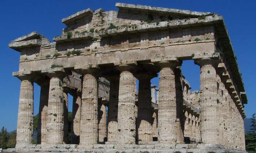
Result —
[[79, 144], [80, 140], [81, 93], [73, 95], [71, 144]]

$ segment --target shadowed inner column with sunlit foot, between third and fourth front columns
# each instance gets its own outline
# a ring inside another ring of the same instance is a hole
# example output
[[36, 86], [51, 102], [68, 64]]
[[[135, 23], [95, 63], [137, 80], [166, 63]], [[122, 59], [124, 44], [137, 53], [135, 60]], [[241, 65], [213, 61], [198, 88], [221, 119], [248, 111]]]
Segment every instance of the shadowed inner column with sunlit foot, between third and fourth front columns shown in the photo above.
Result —
[[117, 113], [120, 76], [107, 78], [110, 82], [108, 106], [108, 142], [117, 142]]

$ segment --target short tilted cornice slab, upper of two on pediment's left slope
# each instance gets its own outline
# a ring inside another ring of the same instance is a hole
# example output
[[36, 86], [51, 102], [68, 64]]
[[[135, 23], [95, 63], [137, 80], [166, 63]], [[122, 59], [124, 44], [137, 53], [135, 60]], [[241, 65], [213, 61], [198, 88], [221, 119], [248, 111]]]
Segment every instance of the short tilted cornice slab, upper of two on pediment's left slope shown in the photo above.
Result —
[[68, 16], [64, 19], [62, 19], [62, 23], [68, 25], [78, 19], [81, 19], [82, 17], [85, 17], [85, 16], [88, 16], [88, 15], [92, 15], [93, 14], [93, 11], [91, 11], [90, 8], [87, 8], [87, 9], [84, 9], [83, 11], [79, 11], [71, 16]]

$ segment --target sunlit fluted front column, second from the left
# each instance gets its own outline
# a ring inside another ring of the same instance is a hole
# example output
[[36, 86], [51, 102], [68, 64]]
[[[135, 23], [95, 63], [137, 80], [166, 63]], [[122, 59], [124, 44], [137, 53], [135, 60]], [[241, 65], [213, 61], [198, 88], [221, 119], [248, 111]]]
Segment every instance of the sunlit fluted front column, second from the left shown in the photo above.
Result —
[[65, 71], [63, 68], [53, 68], [45, 71], [50, 78], [48, 115], [47, 115], [47, 144], [64, 143], [64, 98], [63, 98], [63, 78]]

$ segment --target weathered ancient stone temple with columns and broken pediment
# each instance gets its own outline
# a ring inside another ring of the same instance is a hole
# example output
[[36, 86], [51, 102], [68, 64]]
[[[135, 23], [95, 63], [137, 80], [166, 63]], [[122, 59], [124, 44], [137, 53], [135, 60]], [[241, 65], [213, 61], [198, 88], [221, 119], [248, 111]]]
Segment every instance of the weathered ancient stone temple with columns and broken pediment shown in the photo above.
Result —
[[[38, 32], [10, 42], [20, 52], [13, 75], [21, 85], [17, 144], [5, 151], [246, 152], [247, 98], [222, 16], [116, 7], [62, 19], [54, 42]], [[183, 60], [200, 66], [200, 91], [182, 74]], [[41, 87], [37, 145], [34, 83]]]

